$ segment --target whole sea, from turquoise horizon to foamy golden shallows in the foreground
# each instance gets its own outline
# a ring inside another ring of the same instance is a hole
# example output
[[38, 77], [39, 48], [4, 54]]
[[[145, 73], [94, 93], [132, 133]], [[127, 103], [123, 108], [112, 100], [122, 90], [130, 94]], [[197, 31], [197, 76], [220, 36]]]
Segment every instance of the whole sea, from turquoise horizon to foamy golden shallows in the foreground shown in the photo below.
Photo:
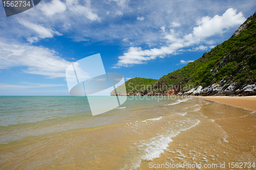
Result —
[[0, 96], [0, 169], [256, 169], [255, 134], [255, 112], [193, 97], [93, 116], [86, 97]]

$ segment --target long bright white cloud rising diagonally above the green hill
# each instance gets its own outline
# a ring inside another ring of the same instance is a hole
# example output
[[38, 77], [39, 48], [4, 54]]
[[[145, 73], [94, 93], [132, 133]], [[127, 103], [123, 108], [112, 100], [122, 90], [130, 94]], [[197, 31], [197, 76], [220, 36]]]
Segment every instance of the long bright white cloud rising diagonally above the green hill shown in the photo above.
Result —
[[[230, 28], [233, 26], [241, 25], [245, 21], [243, 14], [240, 12], [236, 14], [236, 10], [229, 8], [223, 14], [223, 16], [216, 15], [213, 18], [203, 17], [197, 21], [199, 26], [193, 29], [193, 32], [182, 36], [181, 32], [176, 32], [174, 29], [170, 29], [169, 32], [165, 30], [165, 27], [161, 27], [162, 34], [166, 40], [166, 44], [160, 48], [151, 48], [150, 50], [142, 50], [141, 47], [131, 46], [123, 56], [119, 56], [119, 61], [115, 65], [131, 66], [133, 64], [143, 64], [147, 61], [154, 60], [157, 57], [163, 58], [167, 55], [175, 55], [176, 51], [181, 50], [183, 47], [198, 44], [204, 41], [204, 38], [215, 35], [217, 33], [223, 33], [224, 28]], [[218, 24], [220, 23], [220, 24]], [[208, 27], [208, 25], [210, 27]], [[218, 30], [218, 31], [216, 31]], [[191, 51], [204, 51], [207, 50], [207, 46], [200, 45], [192, 48]]]

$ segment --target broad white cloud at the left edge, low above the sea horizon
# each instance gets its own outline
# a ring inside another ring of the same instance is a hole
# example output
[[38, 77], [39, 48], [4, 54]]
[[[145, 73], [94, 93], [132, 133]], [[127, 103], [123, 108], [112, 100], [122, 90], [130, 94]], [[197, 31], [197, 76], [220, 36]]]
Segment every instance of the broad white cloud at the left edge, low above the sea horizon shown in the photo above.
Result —
[[42, 46], [0, 42], [0, 69], [26, 66], [23, 72], [27, 74], [66, 77], [65, 70], [71, 62], [58, 55], [54, 50]]

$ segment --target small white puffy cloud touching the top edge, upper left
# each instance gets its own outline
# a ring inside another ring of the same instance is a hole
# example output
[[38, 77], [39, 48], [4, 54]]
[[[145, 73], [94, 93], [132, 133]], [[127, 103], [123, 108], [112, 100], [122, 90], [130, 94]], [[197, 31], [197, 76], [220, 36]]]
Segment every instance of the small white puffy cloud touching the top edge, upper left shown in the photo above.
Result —
[[40, 10], [47, 16], [52, 16], [56, 13], [64, 12], [67, 9], [66, 5], [59, 0], [52, 0], [50, 3], [42, 2], [40, 6]]

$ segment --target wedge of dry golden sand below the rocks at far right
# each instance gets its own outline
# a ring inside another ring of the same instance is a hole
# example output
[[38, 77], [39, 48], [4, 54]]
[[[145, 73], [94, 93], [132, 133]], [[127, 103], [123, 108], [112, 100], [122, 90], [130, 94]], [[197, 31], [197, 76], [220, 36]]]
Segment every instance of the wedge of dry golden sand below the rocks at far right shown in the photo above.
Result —
[[256, 96], [196, 96], [207, 101], [214, 101], [234, 107], [245, 108], [247, 110], [256, 111]]

